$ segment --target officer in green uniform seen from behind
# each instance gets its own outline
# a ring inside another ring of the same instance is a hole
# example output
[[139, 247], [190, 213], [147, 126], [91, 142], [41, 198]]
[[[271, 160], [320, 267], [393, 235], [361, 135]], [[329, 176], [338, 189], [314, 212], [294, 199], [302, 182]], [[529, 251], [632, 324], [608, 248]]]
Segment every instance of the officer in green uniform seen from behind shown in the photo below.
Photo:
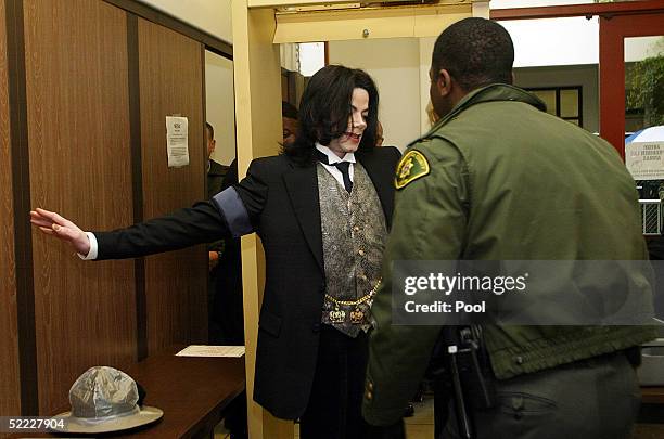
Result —
[[[431, 100], [442, 119], [396, 171], [384, 286], [373, 305], [363, 401], [370, 424], [398, 422], [443, 327], [392, 324], [393, 261], [648, 259], [621, 157], [511, 86], [513, 57], [509, 34], [483, 18], [449, 26], [435, 43]], [[638, 284], [640, 275], [606, 272], [586, 286]], [[650, 286], [638, 294], [648, 308]], [[478, 438], [629, 437], [640, 392], [625, 352], [654, 338], [651, 326], [483, 330], [498, 403], [471, 409]], [[443, 437], [455, 438], [450, 413]]]

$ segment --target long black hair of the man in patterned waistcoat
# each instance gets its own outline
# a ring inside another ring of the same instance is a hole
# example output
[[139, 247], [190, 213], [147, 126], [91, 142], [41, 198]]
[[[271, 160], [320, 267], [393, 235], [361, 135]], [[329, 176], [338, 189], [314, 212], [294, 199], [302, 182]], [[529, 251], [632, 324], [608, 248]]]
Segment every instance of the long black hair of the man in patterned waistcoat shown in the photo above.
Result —
[[316, 142], [329, 145], [348, 129], [353, 115], [353, 90], [363, 89], [369, 94], [367, 128], [358, 151], [373, 149], [378, 125], [379, 94], [373, 79], [359, 68], [329, 65], [309, 80], [299, 101], [299, 130], [295, 141], [284, 145], [284, 154], [297, 162], [311, 160]]

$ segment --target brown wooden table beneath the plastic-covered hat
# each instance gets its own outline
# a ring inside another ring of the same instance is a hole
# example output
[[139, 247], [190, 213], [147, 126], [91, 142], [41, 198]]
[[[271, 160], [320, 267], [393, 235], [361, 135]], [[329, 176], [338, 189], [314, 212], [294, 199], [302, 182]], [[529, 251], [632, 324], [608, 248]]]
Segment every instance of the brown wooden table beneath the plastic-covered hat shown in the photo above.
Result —
[[[164, 411], [158, 422], [94, 437], [210, 438], [230, 402], [245, 388], [244, 358], [176, 357], [184, 346], [122, 369], [146, 391], [145, 405]], [[53, 414], [68, 411], [64, 408]], [[56, 438], [77, 435], [24, 434], [13, 438]]]

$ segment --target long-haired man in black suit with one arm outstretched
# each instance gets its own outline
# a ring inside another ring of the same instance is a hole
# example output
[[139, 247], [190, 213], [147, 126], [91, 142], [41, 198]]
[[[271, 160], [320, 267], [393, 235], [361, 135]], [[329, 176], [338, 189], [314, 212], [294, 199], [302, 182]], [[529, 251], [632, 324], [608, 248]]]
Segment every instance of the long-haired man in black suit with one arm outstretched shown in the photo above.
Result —
[[284, 153], [191, 208], [112, 232], [84, 232], [38, 208], [31, 221], [87, 259], [167, 251], [256, 232], [266, 257], [254, 400], [301, 419], [301, 438], [363, 439], [371, 302], [392, 221], [394, 147], [375, 149], [379, 94], [344, 66], [316, 73]]

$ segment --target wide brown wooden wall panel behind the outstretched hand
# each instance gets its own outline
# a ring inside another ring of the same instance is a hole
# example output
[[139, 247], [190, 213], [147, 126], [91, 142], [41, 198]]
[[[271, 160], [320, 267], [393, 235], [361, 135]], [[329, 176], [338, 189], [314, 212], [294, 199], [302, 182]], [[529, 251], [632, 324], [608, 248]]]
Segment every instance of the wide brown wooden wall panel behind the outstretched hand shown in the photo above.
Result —
[[[25, 0], [33, 206], [87, 230], [132, 222], [126, 13], [102, 1]], [[131, 261], [84, 262], [34, 240], [39, 409], [67, 404], [87, 367], [136, 358]]]

